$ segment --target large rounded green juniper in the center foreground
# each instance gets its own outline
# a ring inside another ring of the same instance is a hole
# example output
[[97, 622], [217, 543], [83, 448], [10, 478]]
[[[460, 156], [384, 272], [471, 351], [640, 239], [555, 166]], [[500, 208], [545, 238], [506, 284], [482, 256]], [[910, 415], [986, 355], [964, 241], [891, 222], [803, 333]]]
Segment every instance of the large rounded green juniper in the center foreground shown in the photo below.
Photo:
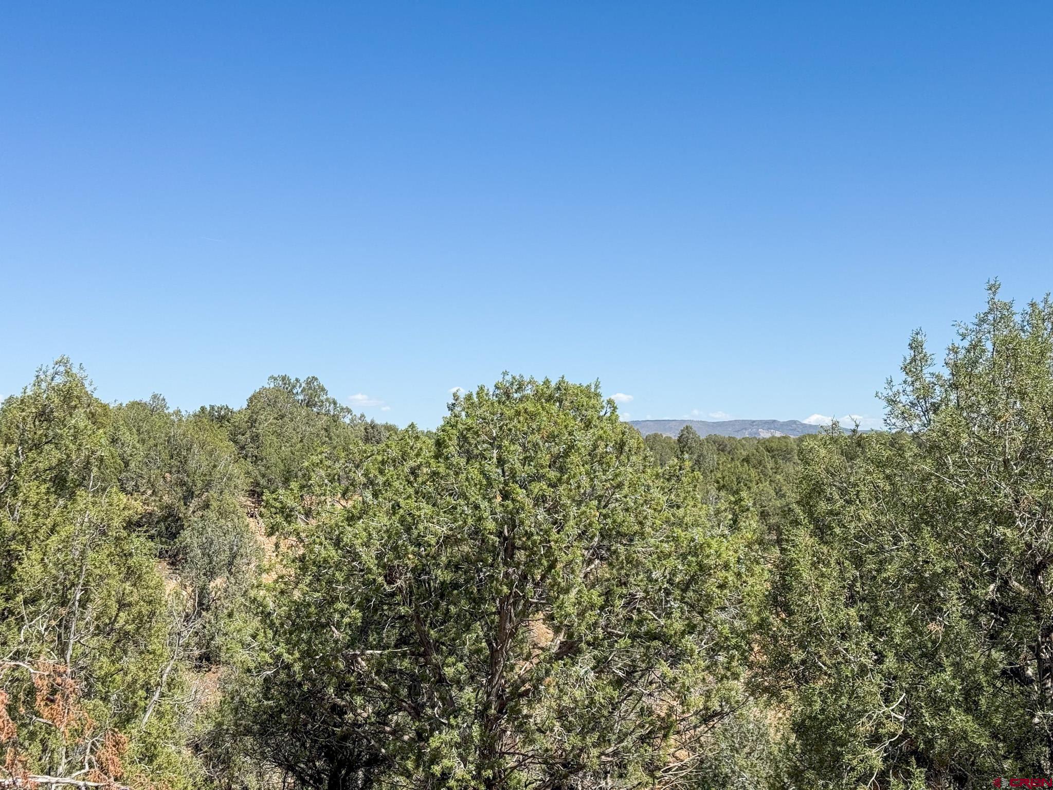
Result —
[[742, 670], [752, 538], [698, 487], [595, 388], [517, 377], [316, 467], [271, 501], [266, 755], [330, 788], [690, 775]]

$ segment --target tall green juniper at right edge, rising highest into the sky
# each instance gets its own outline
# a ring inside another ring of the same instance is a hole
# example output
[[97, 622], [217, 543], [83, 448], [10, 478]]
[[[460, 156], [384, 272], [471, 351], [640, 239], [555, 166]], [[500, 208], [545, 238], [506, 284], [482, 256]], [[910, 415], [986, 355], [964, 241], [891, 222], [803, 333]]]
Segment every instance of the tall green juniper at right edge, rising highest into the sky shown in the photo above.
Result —
[[806, 445], [777, 591], [801, 782], [1053, 770], [1053, 307], [991, 288], [946, 371], [916, 334], [896, 434]]

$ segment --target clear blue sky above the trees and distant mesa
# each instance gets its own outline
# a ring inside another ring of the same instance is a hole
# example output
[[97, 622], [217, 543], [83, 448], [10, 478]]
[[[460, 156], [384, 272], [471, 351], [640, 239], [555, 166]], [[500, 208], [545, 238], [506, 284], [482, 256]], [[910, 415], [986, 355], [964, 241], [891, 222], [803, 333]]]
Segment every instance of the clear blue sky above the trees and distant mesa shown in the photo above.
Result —
[[[909, 332], [1053, 288], [1050, 3], [0, 8], [0, 394], [502, 370], [633, 418], [878, 416]], [[382, 404], [379, 401], [383, 401]], [[386, 411], [381, 411], [386, 407]]]

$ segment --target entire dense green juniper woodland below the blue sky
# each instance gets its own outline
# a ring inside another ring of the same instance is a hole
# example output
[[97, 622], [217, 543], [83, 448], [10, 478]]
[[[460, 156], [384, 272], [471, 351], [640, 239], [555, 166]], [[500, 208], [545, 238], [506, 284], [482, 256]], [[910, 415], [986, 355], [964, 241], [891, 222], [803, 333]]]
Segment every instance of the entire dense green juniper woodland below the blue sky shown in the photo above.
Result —
[[1053, 304], [885, 431], [676, 438], [505, 375], [0, 409], [0, 787], [990, 787], [1053, 775]]

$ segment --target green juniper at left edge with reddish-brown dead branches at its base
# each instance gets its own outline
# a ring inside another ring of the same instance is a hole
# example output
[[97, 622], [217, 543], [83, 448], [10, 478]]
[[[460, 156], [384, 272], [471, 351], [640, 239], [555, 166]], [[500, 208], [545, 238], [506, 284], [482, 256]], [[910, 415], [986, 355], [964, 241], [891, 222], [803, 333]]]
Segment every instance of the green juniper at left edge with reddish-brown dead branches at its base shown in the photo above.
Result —
[[171, 717], [142, 727], [166, 660], [165, 593], [153, 546], [130, 529], [112, 417], [65, 359], [0, 410], [3, 746], [37, 773], [182, 786], [188, 769], [165, 775], [185, 763]]

